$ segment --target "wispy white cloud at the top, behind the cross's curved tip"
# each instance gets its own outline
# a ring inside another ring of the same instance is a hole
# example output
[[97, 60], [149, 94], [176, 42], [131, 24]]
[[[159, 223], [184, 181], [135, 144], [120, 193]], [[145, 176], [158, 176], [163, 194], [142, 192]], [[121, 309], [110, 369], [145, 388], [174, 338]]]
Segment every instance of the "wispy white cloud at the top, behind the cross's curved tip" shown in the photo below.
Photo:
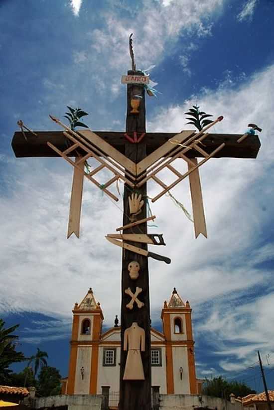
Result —
[[[212, 23], [208, 19], [221, 10], [223, 2], [173, 0], [156, 3], [147, 0], [134, 20], [121, 19], [112, 10], [105, 13], [105, 28], [90, 32], [91, 48], [104, 56], [112, 68], [129, 67], [128, 38], [133, 32], [137, 68], [145, 68], [162, 58], [168, 44], [176, 41], [183, 31], [209, 35]], [[140, 61], [143, 67], [139, 66]]]

